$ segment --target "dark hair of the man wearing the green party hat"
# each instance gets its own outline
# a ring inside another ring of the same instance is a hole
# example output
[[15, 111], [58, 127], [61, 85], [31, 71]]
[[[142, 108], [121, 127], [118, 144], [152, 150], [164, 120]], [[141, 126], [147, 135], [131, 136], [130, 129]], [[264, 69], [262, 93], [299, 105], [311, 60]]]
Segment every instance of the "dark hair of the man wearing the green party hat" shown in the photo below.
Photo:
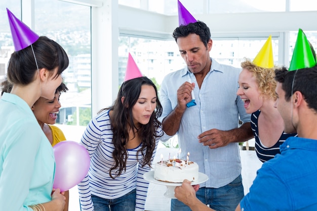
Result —
[[282, 83], [286, 101], [299, 91], [307, 106], [317, 111], [317, 66], [293, 71], [288, 71], [285, 67], [275, 69], [275, 80]]

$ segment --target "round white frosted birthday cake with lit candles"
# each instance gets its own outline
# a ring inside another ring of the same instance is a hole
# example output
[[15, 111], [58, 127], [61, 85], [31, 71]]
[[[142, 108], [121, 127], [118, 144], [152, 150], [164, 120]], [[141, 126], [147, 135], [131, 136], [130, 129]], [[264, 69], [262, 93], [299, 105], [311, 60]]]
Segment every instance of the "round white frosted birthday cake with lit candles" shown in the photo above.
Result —
[[182, 183], [184, 179], [196, 181], [198, 180], [198, 170], [198, 164], [193, 161], [162, 160], [154, 165], [154, 179], [170, 183]]

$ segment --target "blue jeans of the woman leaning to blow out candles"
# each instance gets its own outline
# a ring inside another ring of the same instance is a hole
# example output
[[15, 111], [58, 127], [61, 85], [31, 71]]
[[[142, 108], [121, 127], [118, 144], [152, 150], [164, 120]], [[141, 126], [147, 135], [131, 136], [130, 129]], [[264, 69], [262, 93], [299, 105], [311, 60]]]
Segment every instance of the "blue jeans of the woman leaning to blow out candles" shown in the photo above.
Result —
[[105, 199], [91, 195], [95, 211], [134, 211], [136, 190], [115, 199]]

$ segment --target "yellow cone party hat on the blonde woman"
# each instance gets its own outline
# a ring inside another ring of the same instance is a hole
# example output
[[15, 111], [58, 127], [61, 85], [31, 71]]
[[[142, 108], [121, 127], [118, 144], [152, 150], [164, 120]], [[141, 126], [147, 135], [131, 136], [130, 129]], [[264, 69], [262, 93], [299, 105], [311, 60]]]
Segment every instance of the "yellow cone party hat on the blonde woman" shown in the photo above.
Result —
[[270, 35], [258, 55], [253, 60], [253, 64], [263, 67], [272, 68], [274, 67], [273, 50], [272, 50], [272, 36]]

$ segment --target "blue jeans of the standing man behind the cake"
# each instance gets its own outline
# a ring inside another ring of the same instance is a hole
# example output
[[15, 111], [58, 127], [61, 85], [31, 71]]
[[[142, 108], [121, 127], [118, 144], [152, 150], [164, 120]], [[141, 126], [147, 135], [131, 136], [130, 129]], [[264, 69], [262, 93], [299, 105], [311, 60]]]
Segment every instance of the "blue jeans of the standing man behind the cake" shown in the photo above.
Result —
[[[244, 197], [244, 189], [241, 175], [231, 183], [220, 188], [200, 188], [196, 196], [204, 204], [217, 211], [233, 211]], [[190, 211], [190, 208], [183, 202], [172, 199], [171, 211]]]

